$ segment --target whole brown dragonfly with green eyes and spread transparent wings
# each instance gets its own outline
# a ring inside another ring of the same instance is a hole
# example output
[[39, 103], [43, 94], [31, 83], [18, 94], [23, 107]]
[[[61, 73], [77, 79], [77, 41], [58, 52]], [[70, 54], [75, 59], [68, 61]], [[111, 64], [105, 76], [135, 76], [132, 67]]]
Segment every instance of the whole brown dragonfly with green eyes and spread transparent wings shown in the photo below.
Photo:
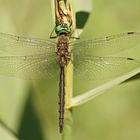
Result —
[[[140, 33], [128, 32], [96, 39], [71, 41], [67, 24], [57, 25], [57, 41], [20, 37], [0, 33], [0, 74], [29, 79], [48, 79], [60, 75], [59, 112], [60, 132], [63, 131], [65, 104], [64, 69], [70, 61], [74, 78], [83, 81], [113, 78], [124, 74], [140, 63], [129, 57], [101, 56], [102, 52], [117, 53], [140, 44]], [[102, 52], [101, 52], [102, 50]], [[121, 71], [120, 71], [121, 69]], [[123, 71], [122, 71], [123, 70]]]

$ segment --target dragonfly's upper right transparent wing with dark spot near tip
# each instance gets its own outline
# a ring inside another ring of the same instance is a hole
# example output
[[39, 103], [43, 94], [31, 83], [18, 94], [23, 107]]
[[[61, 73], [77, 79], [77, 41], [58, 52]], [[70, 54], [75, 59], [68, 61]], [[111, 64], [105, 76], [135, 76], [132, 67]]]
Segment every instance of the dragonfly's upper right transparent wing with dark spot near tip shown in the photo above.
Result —
[[105, 56], [140, 45], [140, 33], [128, 32], [105, 38], [79, 40], [71, 44], [77, 55]]

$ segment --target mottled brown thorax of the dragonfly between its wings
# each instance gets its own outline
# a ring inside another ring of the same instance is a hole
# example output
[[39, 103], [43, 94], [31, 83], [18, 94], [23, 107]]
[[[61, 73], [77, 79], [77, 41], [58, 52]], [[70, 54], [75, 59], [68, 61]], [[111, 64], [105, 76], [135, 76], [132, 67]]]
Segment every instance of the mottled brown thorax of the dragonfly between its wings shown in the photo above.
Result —
[[60, 35], [57, 43], [57, 61], [61, 66], [67, 65], [70, 60], [69, 39], [66, 35]]

